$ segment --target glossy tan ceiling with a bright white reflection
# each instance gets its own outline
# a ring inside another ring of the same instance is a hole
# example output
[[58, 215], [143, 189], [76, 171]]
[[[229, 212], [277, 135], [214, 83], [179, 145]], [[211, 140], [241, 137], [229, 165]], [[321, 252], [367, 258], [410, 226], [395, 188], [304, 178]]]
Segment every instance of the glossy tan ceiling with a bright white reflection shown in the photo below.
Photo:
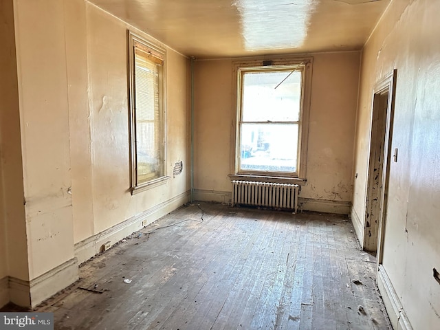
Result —
[[187, 56], [360, 50], [391, 0], [89, 0]]

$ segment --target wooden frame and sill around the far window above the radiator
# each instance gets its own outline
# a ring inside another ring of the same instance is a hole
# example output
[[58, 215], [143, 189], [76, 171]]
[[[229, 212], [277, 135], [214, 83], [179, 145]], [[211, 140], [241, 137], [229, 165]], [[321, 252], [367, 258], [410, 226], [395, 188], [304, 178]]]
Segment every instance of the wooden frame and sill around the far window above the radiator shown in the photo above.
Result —
[[[240, 109], [240, 76], [239, 69], [245, 69], [247, 67], [261, 67], [262, 69], [267, 68], [267, 63], [270, 62], [270, 67], [283, 67], [285, 65], [303, 65], [303, 93], [301, 98], [301, 107], [300, 107], [300, 133], [299, 133], [299, 142], [298, 148], [300, 148], [300, 152], [298, 153], [298, 170], [297, 175], [292, 175], [291, 173], [286, 173], [286, 175], [279, 175], [280, 173], [259, 173], [254, 174], [247, 171], [239, 170], [239, 122], [241, 119], [241, 109]], [[247, 181], [259, 180], [259, 181], [275, 181], [280, 183], [296, 183], [296, 184], [305, 184], [307, 181], [307, 145], [309, 140], [309, 113], [310, 113], [310, 100], [311, 100], [311, 76], [312, 76], [312, 67], [313, 67], [313, 57], [284, 57], [284, 58], [250, 58], [244, 59], [240, 61], [234, 61], [233, 63], [233, 85], [232, 85], [232, 104], [234, 109], [236, 109], [236, 122], [235, 122], [235, 136], [234, 136], [234, 150], [232, 151], [233, 164], [231, 166], [231, 172], [234, 173], [229, 175], [231, 179], [245, 179]]]

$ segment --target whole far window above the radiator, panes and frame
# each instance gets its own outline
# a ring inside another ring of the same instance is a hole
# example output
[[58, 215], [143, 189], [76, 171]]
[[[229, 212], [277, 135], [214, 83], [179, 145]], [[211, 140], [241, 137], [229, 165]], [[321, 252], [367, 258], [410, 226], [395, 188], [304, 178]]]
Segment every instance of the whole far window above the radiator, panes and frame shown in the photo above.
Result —
[[311, 59], [238, 63], [236, 175], [305, 179]]

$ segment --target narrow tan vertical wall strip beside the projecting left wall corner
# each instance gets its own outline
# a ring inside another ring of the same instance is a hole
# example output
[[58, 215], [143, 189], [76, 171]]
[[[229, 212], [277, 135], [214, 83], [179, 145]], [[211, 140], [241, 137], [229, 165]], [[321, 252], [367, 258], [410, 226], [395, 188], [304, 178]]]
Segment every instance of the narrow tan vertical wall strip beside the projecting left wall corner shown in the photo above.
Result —
[[[94, 234], [91, 193], [91, 131], [93, 118], [89, 115], [89, 75], [87, 58], [87, 14], [85, 1], [66, 1], [65, 33], [67, 76], [69, 84], [70, 165], [74, 241]], [[78, 206], [78, 207], [77, 207]]]

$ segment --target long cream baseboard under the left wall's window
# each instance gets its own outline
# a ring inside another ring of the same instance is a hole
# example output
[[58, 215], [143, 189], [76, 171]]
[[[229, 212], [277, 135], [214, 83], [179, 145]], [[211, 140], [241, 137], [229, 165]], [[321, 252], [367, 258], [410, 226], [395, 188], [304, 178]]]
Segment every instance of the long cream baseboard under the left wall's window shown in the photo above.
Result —
[[136, 230], [140, 230], [144, 225], [153, 223], [153, 221], [156, 221], [159, 217], [175, 210], [186, 203], [189, 200], [189, 196], [189, 191], [183, 192], [180, 195], [153, 206], [153, 208], [149, 208], [148, 210], [135, 215], [134, 217], [126, 219], [117, 225], [113, 225], [107, 230], [103, 230], [88, 239], [76, 243], [75, 257], [78, 259], [78, 263], [83, 263], [84, 261], [89, 260], [92, 256], [98, 254], [102, 245], [113, 245]]

